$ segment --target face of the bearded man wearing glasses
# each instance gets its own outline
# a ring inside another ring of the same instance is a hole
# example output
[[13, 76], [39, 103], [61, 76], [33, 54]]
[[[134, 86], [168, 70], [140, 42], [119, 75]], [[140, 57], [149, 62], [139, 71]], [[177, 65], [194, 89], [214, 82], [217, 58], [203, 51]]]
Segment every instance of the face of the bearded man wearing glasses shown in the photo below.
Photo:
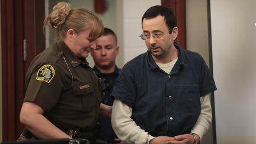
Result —
[[[144, 19], [142, 21], [143, 33], [150, 35], [150, 39], [145, 40], [148, 50], [153, 59], [158, 63], [168, 63], [178, 56], [178, 51], [174, 46], [174, 40], [178, 35], [178, 28], [174, 27], [169, 34], [167, 24], [163, 16]], [[161, 38], [155, 39], [152, 34], [161, 34]]]

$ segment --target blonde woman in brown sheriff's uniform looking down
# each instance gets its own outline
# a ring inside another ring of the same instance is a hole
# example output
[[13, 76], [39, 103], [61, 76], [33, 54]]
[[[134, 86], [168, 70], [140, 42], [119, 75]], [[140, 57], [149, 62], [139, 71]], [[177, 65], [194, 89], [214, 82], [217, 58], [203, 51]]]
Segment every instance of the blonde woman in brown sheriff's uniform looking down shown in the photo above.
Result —
[[85, 57], [103, 23], [85, 8], [59, 2], [46, 25], [57, 28], [59, 40], [30, 63], [20, 121], [39, 139], [82, 137], [94, 143], [101, 92]]

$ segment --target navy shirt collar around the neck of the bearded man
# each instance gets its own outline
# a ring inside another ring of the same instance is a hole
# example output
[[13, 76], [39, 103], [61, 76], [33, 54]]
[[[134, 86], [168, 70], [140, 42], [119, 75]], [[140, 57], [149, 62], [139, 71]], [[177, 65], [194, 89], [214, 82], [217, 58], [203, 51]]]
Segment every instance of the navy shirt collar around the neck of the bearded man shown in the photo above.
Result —
[[[175, 48], [178, 50], [178, 64], [181, 65], [185, 65], [184, 63], [184, 49], [181, 49], [181, 47], [178, 45], [178, 43], [174, 42], [174, 46]], [[155, 60], [153, 60], [153, 57], [151, 55], [151, 52], [149, 52], [149, 50], [146, 52], [146, 57], [148, 59], [148, 63], [149, 66], [151, 67], [151, 69], [156, 69], [158, 68], [158, 65], [156, 65]]]

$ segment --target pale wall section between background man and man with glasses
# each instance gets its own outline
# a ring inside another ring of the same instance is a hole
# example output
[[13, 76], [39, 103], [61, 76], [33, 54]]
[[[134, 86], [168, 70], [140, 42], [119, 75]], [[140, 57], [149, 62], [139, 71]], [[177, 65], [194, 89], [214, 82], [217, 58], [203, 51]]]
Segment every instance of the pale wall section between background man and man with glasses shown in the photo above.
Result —
[[[145, 41], [141, 40], [139, 35], [142, 33], [141, 18], [146, 9], [153, 5], [161, 5], [161, 1], [158, 0], [130, 0], [120, 2], [121, 7], [119, 10], [122, 15], [117, 17], [117, 21], [121, 21], [121, 30], [119, 33], [123, 34], [123, 60], [124, 63], [133, 59], [134, 57], [146, 52], [147, 47]], [[140, 7], [135, 7], [134, 5]], [[119, 11], [117, 11], [119, 13]]]

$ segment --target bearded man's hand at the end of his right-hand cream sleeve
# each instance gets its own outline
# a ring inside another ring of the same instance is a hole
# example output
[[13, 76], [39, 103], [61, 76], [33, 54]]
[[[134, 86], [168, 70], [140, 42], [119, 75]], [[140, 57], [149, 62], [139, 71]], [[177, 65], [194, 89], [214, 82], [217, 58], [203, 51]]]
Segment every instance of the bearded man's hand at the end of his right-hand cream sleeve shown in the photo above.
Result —
[[168, 144], [194, 144], [194, 137], [191, 134], [174, 136], [175, 140], [169, 140]]

